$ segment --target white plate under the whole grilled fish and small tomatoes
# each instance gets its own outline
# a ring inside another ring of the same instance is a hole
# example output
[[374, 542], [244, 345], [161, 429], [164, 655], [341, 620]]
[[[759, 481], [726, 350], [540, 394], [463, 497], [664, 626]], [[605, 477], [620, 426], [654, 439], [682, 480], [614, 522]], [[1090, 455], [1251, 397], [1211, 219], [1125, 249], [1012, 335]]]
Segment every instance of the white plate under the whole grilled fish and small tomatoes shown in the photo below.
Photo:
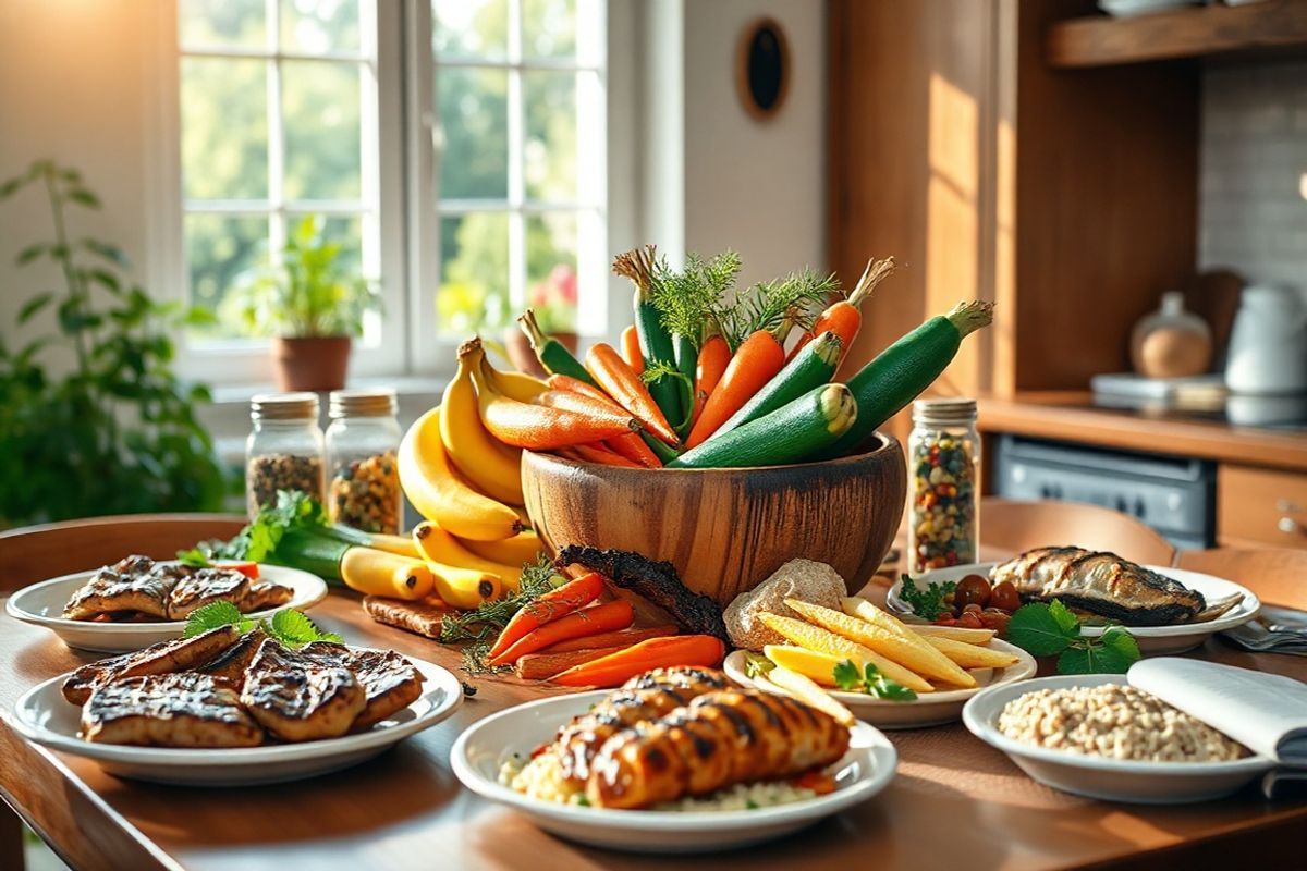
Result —
[[[989, 569], [995, 565], [997, 565], [997, 563], [950, 565], [949, 568], [937, 568], [933, 572], [921, 572], [915, 576], [914, 580], [918, 582], [918, 586], [925, 586], [931, 582], [938, 584], [941, 581], [958, 581], [967, 575], [983, 575], [988, 578]], [[1247, 623], [1252, 618], [1257, 616], [1257, 611], [1261, 610], [1261, 602], [1253, 592], [1247, 586], [1235, 584], [1234, 581], [1226, 581], [1210, 575], [1202, 575], [1201, 572], [1188, 572], [1183, 568], [1171, 568], [1170, 565], [1145, 565], [1144, 568], [1151, 569], [1158, 575], [1166, 575], [1167, 577], [1175, 578], [1191, 590], [1202, 593], [1202, 595], [1209, 599], [1222, 598], [1233, 593], [1243, 593], [1243, 602], [1230, 611], [1226, 611], [1218, 619], [1209, 620], [1208, 623], [1125, 627], [1140, 642], [1140, 652], [1145, 656], [1161, 656], [1163, 653], [1183, 653], [1185, 650], [1192, 650], [1202, 644], [1208, 636]], [[899, 598], [901, 586], [902, 581], [894, 581], [894, 586], [890, 588], [889, 594], [885, 597], [885, 605], [889, 606], [889, 610], [901, 616], [911, 615], [912, 609], [907, 606], [907, 602]], [[1100, 626], [1086, 626], [1084, 628], [1084, 633], [1090, 637], [1097, 637], [1103, 633], [1103, 629], [1104, 627]]]

